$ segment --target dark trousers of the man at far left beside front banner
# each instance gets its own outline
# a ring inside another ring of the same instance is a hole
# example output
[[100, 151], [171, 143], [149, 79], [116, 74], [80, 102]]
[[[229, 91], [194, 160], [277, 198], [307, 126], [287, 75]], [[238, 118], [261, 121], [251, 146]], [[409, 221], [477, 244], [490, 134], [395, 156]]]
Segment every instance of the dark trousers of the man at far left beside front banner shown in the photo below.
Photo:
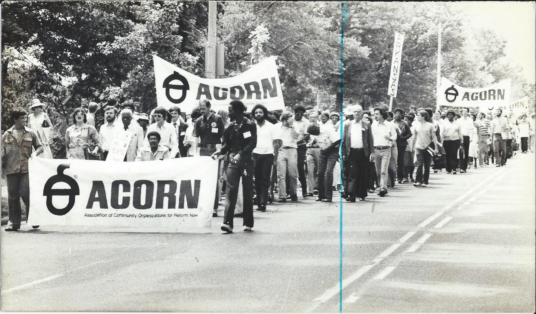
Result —
[[26, 205], [26, 219], [29, 215], [30, 204], [30, 185], [28, 173], [7, 174], [8, 180], [8, 209], [9, 209], [9, 226], [15, 229], [20, 228], [22, 212], [20, 208], [20, 199], [23, 199]]

